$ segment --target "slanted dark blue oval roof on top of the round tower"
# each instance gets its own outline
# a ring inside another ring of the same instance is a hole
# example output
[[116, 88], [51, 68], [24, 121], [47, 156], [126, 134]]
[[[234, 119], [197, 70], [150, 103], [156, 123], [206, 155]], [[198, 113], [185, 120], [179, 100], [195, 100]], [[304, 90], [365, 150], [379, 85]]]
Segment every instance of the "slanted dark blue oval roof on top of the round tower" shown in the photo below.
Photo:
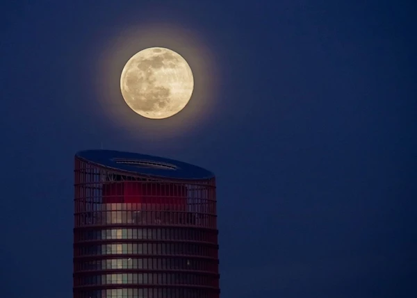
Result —
[[214, 174], [197, 165], [178, 160], [113, 150], [85, 150], [75, 154], [90, 163], [134, 174], [172, 179], [209, 179]]

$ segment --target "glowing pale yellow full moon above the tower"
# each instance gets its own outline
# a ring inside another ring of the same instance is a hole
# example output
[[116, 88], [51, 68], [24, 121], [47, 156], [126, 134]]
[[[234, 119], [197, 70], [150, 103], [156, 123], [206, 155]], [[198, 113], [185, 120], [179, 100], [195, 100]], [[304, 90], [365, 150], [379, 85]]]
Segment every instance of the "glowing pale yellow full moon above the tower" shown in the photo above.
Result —
[[187, 61], [170, 49], [153, 47], [136, 53], [124, 65], [120, 90], [136, 113], [163, 119], [179, 113], [193, 94], [194, 78]]

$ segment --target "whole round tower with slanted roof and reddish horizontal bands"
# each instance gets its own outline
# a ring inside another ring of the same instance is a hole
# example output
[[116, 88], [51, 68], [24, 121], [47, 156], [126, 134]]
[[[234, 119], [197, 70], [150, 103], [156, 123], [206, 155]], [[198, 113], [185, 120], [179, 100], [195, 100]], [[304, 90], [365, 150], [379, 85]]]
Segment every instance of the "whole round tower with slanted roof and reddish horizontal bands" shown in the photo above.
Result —
[[74, 176], [74, 298], [220, 296], [211, 172], [89, 150]]

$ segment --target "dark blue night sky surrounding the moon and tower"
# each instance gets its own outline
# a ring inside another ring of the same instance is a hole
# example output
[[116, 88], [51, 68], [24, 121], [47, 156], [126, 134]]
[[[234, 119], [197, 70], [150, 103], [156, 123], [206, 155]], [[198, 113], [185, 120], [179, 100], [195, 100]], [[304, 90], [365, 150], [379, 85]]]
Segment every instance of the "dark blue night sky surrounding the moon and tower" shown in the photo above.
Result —
[[[101, 144], [215, 173], [221, 297], [417, 297], [413, 2], [1, 1], [1, 297], [72, 297]], [[160, 121], [118, 90], [155, 46], [196, 81]]]

